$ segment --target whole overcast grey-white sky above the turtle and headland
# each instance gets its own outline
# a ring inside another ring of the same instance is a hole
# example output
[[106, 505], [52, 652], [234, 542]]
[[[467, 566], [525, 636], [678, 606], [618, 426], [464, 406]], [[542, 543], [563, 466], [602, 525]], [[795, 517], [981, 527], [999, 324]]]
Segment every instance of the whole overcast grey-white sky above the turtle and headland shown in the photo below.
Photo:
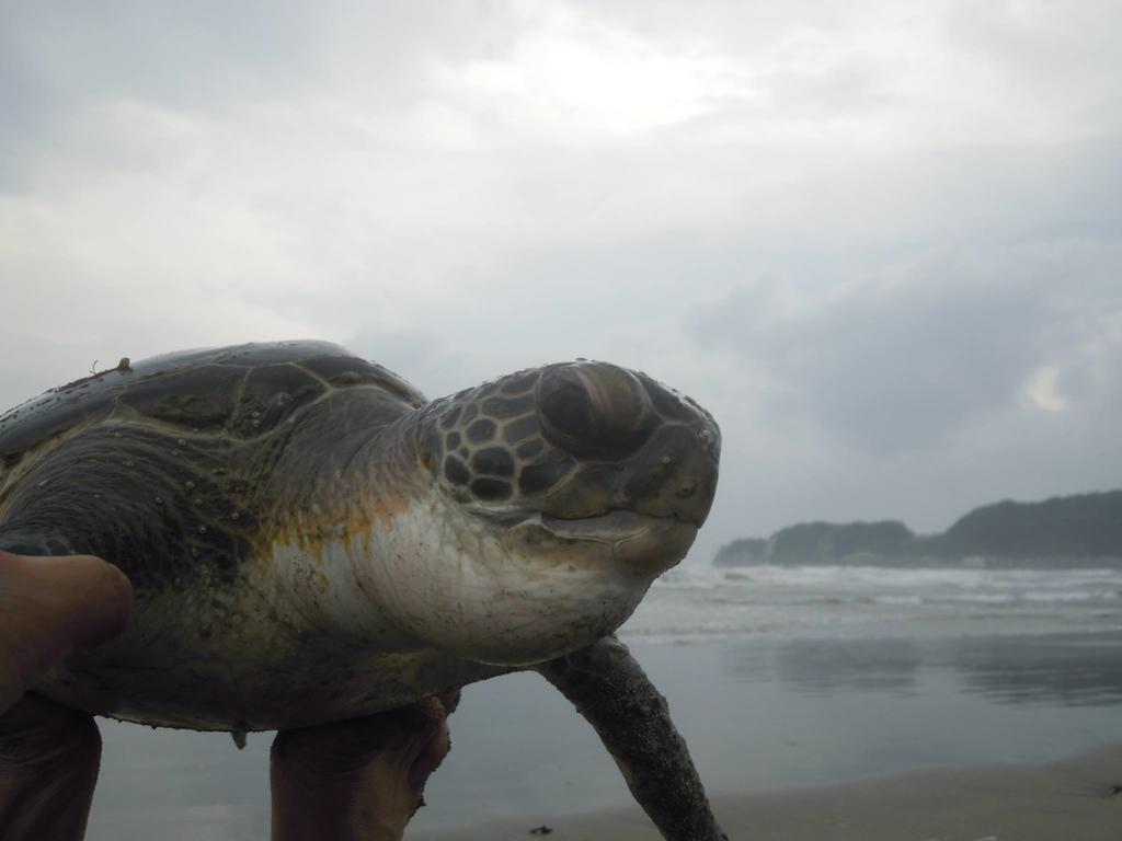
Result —
[[1122, 486], [1122, 4], [0, 3], [0, 404], [340, 342], [642, 368], [696, 557]]

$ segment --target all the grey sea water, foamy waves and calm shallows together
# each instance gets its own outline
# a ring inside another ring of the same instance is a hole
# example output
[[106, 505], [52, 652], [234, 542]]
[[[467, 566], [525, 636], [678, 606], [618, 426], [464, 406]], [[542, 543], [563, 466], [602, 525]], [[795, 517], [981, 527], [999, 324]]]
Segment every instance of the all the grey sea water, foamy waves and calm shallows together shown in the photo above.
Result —
[[[1122, 571], [686, 566], [622, 638], [710, 791], [1047, 761], [1122, 741]], [[629, 802], [591, 729], [534, 674], [476, 684], [413, 828]], [[88, 838], [267, 837], [272, 734], [102, 722]]]

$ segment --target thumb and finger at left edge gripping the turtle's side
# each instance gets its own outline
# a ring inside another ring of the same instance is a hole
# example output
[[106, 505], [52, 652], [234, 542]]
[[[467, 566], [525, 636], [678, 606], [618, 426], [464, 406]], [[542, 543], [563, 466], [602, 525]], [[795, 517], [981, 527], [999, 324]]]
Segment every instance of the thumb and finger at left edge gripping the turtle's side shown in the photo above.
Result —
[[89, 555], [0, 551], [0, 838], [81, 839], [101, 759], [93, 718], [28, 693], [128, 622], [132, 588]]

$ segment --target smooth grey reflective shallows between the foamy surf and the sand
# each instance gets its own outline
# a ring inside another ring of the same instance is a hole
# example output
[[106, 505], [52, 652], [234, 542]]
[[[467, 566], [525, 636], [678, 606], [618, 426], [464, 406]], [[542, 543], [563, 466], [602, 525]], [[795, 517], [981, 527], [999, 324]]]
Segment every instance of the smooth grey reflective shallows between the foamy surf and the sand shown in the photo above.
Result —
[[[711, 792], [1038, 763], [1122, 741], [1122, 632], [633, 646]], [[416, 828], [631, 802], [592, 730], [536, 675], [470, 686]], [[90, 841], [267, 835], [269, 734], [102, 722]], [[1031, 738], [1027, 738], [1031, 734]], [[978, 835], [982, 837], [982, 835]]]

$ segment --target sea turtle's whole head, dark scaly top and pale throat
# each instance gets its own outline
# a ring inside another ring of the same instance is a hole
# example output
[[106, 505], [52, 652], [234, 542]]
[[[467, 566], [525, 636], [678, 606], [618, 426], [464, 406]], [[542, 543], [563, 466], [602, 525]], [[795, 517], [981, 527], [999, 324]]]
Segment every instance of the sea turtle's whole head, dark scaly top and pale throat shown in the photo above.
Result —
[[610, 634], [684, 557], [712, 503], [717, 424], [641, 372], [524, 370], [419, 420], [429, 501], [413, 516], [438, 524], [426, 546], [444, 566], [425, 579], [447, 590], [422, 598], [448, 625], [436, 632], [426, 616], [419, 636], [470, 659], [525, 665]]

